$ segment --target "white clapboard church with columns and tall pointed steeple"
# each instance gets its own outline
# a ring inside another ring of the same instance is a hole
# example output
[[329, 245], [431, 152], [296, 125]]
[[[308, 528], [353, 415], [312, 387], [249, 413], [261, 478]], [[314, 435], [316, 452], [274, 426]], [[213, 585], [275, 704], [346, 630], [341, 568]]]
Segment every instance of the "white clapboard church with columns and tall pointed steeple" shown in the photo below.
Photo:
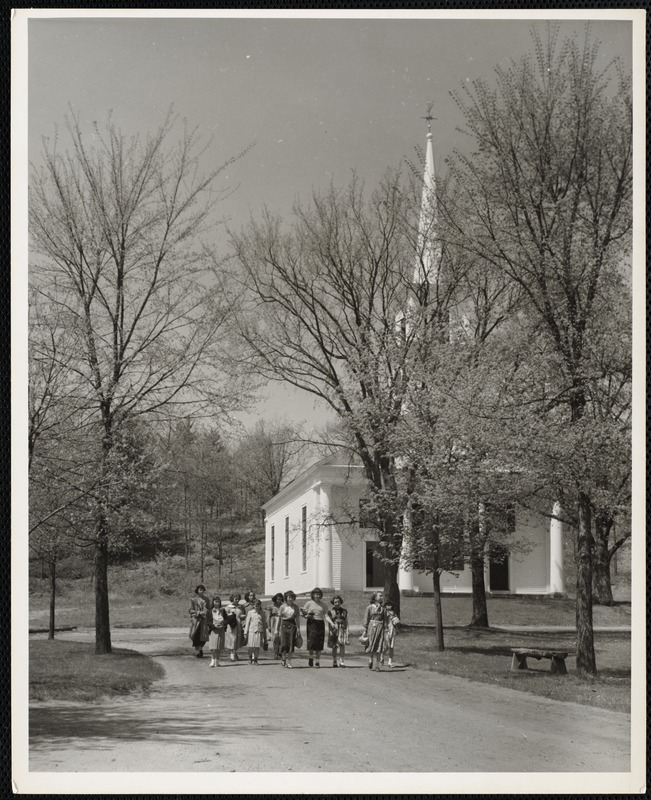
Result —
[[[425, 119], [429, 122], [429, 114]], [[421, 249], [414, 281], [434, 281], [439, 251], [436, 243], [436, 184], [432, 133], [428, 130]], [[363, 503], [369, 496], [361, 465], [340, 452], [318, 463], [285, 486], [264, 506], [265, 593], [292, 589], [372, 590], [384, 586], [384, 564], [376, 556], [378, 531], [364, 527]], [[560, 508], [550, 509], [560, 514]], [[513, 539], [519, 546], [504, 557], [487, 554], [485, 580], [491, 593], [563, 593], [563, 526], [554, 516], [515, 508]], [[441, 575], [444, 592], [470, 592], [470, 568], [463, 561]], [[400, 567], [402, 591], [431, 591], [432, 576]]]

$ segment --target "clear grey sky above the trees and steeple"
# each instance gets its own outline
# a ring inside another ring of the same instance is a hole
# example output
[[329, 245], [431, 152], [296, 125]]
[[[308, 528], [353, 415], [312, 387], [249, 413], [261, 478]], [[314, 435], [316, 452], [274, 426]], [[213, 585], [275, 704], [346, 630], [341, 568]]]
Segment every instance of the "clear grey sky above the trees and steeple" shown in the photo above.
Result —
[[[170, 106], [206, 141], [206, 168], [255, 146], [229, 167], [235, 191], [220, 207], [239, 230], [263, 206], [283, 216], [313, 188], [348, 183], [355, 170], [371, 187], [387, 167], [423, 147], [422, 117], [433, 104], [435, 167], [464, 146], [450, 97], [496, 65], [531, 51], [530, 29], [545, 22], [504, 19], [74, 18], [28, 23], [28, 146], [38, 163], [42, 137], [71, 108], [82, 127], [112, 110], [127, 133], [155, 130]], [[562, 34], [585, 31], [566, 21]], [[631, 23], [595, 21], [605, 66], [631, 64]], [[223, 229], [221, 229], [223, 230]], [[241, 414], [320, 425], [312, 397], [271, 385]]]

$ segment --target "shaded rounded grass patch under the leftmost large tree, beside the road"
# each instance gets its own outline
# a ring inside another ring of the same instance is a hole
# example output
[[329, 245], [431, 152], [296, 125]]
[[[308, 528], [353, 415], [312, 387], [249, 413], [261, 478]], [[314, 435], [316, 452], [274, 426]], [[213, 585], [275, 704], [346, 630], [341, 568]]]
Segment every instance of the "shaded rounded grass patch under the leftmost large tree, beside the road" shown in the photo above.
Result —
[[94, 644], [31, 639], [29, 699], [95, 701], [147, 691], [164, 670], [148, 656], [116, 649], [95, 655]]

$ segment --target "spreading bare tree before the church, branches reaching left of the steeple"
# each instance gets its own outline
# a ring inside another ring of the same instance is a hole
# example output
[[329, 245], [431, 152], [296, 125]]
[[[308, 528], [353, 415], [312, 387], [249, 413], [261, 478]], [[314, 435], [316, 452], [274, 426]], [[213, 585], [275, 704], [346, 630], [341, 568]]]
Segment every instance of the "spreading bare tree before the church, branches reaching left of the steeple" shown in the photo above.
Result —
[[410, 353], [427, 324], [445, 315], [452, 284], [449, 274], [447, 283], [413, 281], [426, 247], [419, 210], [419, 192], [404, 191], [398, 175], [368, 198], [354, 178], [344, 190], [315, 193], [288, 230], [266, 213], [233, 236], [250, 296], [238, 322], [251, 363], [323, 398], [343, 421], [386, 509], [384, 588], [397, 609], [403, 530], [395, 509], [404, 511], [405, 501], [388, 432], [402, 414]]

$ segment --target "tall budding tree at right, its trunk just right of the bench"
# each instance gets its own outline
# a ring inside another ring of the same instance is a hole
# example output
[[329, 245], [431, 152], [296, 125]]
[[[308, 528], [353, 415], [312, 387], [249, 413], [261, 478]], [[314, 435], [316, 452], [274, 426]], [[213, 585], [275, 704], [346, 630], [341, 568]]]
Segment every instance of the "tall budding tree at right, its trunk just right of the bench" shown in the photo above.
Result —
[[[630, 80], [601, 69], [586, 36], [533, 31], [534, 54], [454, 95], [475, 147], [452, 165], [459, 246], [517, 284], [553, 353], [558, 432], [587, 444], [590, 342], [600, 299], [626, 266], [631, 229]], [[463, 219], [463, 224], [461, 220]], [[450, 222], [454, 222], [450, 215]], [[551, 409], [550, 409], [551, 410]], [[562, 458], [572, 460], [564, 448]], [[577, 670], [594, 674], [590, 479], [575, 460]]]

